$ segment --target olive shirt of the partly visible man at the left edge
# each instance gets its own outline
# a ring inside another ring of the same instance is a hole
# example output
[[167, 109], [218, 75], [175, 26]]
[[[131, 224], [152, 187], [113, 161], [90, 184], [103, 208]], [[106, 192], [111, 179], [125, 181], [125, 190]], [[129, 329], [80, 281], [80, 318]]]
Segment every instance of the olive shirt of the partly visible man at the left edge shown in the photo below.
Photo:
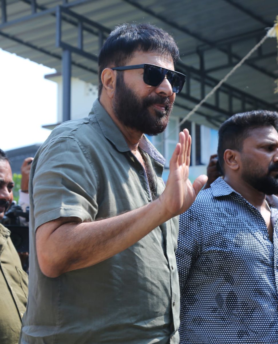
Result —
[[11, 232], [0, 224], [0, 343], [17, 344], [21, 320], [26, 309], [27, 273], [10, 238]]

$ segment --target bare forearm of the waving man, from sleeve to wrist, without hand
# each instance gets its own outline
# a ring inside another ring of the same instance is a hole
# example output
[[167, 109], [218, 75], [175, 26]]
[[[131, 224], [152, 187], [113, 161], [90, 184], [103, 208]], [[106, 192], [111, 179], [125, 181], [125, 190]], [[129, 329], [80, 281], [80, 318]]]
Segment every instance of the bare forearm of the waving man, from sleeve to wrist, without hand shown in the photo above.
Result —
[[58, 219], [36, 232], [40, 269], [48, 277], [97, 264], [135, 244], [173, 216], [159, 199], [133, 211], [94, 222]]

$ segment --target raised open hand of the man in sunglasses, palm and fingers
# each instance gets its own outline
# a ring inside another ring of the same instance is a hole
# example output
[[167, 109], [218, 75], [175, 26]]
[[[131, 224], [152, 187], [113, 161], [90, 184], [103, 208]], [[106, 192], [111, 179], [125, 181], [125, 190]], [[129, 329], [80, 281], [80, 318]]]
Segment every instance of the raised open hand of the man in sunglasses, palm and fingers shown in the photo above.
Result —
[[170, 173], [166, 187], [159, 197], [169, 217], [185, 212], [207, 181], [206, 175], [200, 175], [193, 184], [188, 179], [190, 151], [191, 136], [188, 130], [184, 129], [179, 133], [179, 143], [170, 160]]

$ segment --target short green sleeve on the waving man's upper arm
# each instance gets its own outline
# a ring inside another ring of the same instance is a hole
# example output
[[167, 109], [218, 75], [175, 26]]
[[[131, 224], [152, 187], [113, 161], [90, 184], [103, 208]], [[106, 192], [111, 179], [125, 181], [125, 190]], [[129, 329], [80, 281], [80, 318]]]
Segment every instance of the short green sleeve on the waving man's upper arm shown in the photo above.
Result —
[[49, 142], [40, 150], [31, 171], [35, 229], [59, 217], [94, 220], [97, 178], [89, 161], [85, 149], [71, 137]]

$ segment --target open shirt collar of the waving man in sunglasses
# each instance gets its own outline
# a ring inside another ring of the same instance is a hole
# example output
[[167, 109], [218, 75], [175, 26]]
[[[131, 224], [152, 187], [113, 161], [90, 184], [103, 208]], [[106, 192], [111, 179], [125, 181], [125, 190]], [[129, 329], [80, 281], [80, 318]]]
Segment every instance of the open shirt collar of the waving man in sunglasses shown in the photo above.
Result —
[[[89, 116], [93, 114], [96, 117], [106, 139], [112, 142], [119, 152], [130, 151], [120, 129], [116, 126], [115, 122], [108, 115], [98, 99], [94, 101]], [[157, 160], [163, 165], [165, 164], [164, 157], [159, 153], [159, 151], [153, 146], [153, 144], [147, 139], [145, 135], [143, 135], [142, 139], [140, 140], [139, 147], [146, 153], [148, 153], [153, 159]]]

